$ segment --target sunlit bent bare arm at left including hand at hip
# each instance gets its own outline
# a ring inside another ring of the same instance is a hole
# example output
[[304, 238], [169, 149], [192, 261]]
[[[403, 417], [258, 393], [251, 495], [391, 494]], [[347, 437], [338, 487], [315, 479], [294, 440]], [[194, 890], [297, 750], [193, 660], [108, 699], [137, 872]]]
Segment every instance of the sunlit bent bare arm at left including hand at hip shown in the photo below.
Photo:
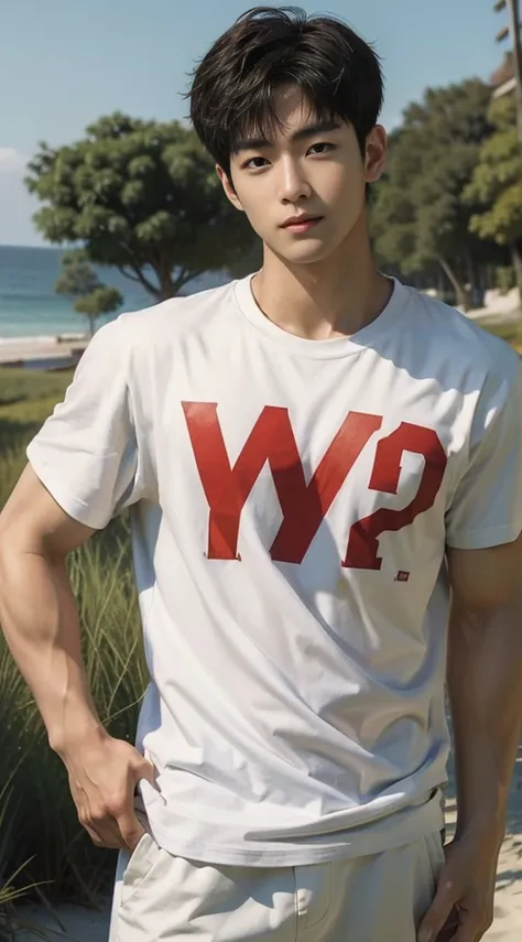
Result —
[[78, 818], [100, 846], [135, 846], [140, 778], [152, 767], [111, 738], [96, 713], [81, 660], [68, 553], [95, 532], [55, 502], [30, 466], [0, 516], [0, 622], [68, 775]]

